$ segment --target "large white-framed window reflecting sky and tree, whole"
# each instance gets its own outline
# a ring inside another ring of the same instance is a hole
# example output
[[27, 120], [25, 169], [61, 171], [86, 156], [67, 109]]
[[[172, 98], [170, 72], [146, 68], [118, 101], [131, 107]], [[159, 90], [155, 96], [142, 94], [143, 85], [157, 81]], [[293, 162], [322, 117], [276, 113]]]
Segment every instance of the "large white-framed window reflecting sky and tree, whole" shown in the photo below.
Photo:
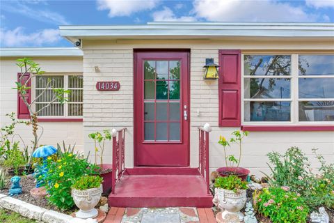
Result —
[[244, 123], [334, 121], [334, 55], [244, 54]]

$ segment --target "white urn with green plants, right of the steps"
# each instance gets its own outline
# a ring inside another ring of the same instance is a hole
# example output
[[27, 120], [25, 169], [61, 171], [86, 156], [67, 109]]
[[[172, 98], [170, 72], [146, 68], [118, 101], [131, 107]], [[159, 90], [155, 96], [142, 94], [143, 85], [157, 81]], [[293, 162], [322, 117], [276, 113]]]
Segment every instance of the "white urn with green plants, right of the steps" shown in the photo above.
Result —
[[214, 205], [221, 210], [221, 217], [225, 220], [227, 214], [237, 215], [239, 220], [244, 219], [240, 212], [246, 203], [247, 182], [238, 176], [230, 175], [227, 177], [219, 176], [214, 183]]

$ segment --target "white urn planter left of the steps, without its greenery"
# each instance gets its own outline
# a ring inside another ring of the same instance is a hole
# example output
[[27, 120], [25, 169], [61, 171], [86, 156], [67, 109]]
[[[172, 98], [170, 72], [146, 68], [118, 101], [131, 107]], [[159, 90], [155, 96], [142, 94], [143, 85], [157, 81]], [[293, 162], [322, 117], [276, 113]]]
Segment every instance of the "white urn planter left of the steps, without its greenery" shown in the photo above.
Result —
[[72, 190], [72, 197], [75, 205], [80, 209], [75, 213], [75, 217], [87, 219], [97, 216], [98, 211], [95, 209], [102, 195], [102, 184], [100, 187], [90, 188], [87, 190]]

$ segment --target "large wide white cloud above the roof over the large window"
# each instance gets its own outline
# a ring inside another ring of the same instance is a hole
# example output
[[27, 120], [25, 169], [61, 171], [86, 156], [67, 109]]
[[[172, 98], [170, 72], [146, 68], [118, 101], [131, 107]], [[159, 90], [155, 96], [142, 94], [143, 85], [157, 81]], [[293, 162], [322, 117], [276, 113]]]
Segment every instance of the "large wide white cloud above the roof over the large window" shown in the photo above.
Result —
[[316, 22], [321, 15], [306, 13], [286, 2], [257, 0], [201, 0], [193, 2], [196, 17], [219, 22]]

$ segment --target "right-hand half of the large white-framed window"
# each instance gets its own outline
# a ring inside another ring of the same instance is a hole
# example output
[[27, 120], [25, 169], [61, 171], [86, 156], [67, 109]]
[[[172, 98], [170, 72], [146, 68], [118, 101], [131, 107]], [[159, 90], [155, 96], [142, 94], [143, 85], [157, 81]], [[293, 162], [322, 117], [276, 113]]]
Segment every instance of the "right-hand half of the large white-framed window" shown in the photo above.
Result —
[[299, 55], [299, 121], [334, 121], [334, 55]]

